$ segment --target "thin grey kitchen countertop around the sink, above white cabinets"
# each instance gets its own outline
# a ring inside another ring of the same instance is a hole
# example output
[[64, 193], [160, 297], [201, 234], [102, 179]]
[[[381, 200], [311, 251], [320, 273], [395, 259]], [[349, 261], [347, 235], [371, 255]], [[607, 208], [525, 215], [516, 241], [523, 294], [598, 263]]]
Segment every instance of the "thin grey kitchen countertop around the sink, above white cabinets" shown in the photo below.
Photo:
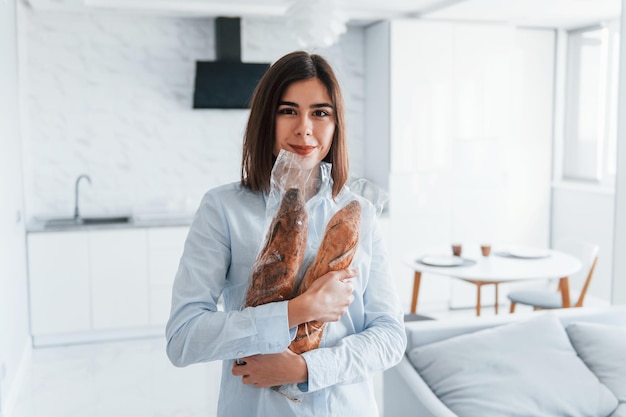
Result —
[[189, 226], [193, 220], [190, 216], [174, 216], [174, 217], [131, 217], [127, 222], [121, 223], [99, 223], [99, 224], [59, 224], [46, 225], [46, 219], [33, 219], [26, 224], [27, 233], [46, 233], [46, 232], [75, 232], [84, 230], [116, 230], [116, 229], [135, 229], [144, 227], [179, 227]]

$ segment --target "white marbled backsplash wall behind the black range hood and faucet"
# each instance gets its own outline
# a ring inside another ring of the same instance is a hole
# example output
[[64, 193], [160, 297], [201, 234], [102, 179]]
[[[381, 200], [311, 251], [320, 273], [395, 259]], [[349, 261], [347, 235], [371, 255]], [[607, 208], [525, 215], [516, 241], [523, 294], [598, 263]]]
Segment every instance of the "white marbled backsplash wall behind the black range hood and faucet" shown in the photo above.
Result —
[[[197, 60], [215, 57], [213, 19], [114, 13], [21, 16], [23, 157], [29, 218], [192, 213], [237, 181], [247, 110], [192, 110]], [[242, 21], [242, 60], [299, 49], [276, 20]], [[344, 88], [352, 172], [362, 175], [364, 36], [319, 51]]]

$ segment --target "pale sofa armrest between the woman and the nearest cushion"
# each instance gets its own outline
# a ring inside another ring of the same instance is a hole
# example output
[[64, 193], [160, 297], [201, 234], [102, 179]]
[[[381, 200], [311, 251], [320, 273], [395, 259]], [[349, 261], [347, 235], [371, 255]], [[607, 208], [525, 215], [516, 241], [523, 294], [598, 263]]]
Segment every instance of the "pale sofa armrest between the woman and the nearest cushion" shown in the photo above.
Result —
[[458, 417], [417, 373], [406, 356], [383, 374], [384, 415], [390, 417]]

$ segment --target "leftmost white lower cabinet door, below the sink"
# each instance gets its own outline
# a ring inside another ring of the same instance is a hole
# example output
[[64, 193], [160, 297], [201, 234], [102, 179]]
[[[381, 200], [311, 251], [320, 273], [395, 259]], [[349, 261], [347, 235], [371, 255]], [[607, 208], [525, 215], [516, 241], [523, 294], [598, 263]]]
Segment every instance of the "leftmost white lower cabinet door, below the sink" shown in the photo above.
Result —
[[28, 236], [30, 327], [33, 335], [91, 329], [89, 234]]

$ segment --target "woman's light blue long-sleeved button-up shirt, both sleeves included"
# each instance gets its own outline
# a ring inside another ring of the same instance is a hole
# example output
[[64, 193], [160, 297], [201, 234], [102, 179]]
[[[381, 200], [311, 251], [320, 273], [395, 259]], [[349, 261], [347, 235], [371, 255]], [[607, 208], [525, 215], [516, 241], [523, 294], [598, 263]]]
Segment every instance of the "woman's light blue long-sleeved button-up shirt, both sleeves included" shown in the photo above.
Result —
[[[326, 167], [325, 167], [326, 168]], [[167, 354], [176, 366], [222, 360], [218, 416], [377, 416], [371, 375], [400, 361], [406, 346], [403, 312], [374, 206], [346, 187], [333, 201], [330, 182], [307, 201], [310, 263], [330, 216], [352, 199], [362, 207], [359, 249], [352, 268], [354, 301], [328, 323], [318, 349], [302, 354], [308, 381], [269, 388], [245, 385], [231, 373], [236, 358], [279, 353], [295, 336], [287, 301], [243, 308], [252, 265], [269, 224], [268, 196], [239, 183], [205, 194], [176, 274], [167, 324]], [[271, 219], [270, 219], [271, 220]], [[302, 268], [301, 279], [305, 268]], [[223, 309], [218, 308], [220, 297]]]

